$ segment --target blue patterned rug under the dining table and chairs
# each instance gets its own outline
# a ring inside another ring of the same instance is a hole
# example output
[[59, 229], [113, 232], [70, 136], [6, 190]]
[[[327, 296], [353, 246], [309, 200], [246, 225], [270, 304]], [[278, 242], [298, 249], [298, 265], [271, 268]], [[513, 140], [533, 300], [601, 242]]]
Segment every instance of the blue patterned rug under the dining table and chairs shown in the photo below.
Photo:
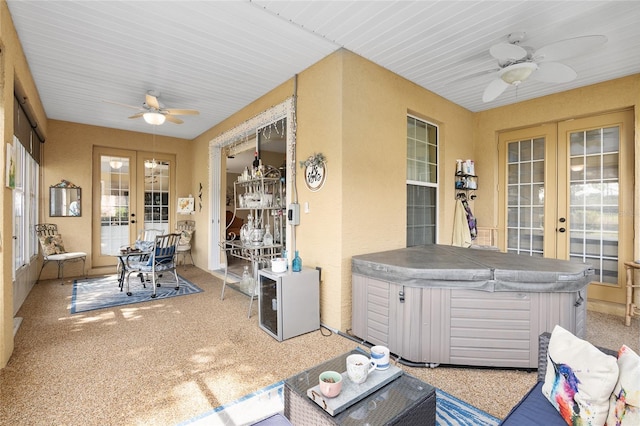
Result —
[[79, 312], [149, 302], [203, 291], [200, 287], [180, 275], [178, 275], [178, 280], [180, 281], [180, 288], [176, 290], [172, 274], [170, 277], [162, 277], [159, 281], [160, 287], [156, 288], [157, 297], [155, 299], [151, 298], [153, 290], [151, 283], [147, 282], [146, 288], [144, 288], [140, 279], [134, 276], [131, 277], [131, 293], [133, 293], [131, 296], [127, 296], [126, 291], [120, 291], [116, 275], [75, 280], [71, 296], [71, 313], [77, 314]]

